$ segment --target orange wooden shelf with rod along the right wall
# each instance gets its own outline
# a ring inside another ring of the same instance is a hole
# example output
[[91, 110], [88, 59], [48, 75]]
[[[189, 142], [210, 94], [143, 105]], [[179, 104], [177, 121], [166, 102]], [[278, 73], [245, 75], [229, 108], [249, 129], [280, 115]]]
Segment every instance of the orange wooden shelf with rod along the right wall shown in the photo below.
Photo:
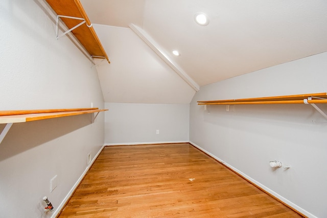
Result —
[[283, 95], [261, 98], [242, 98], [228, 100], [198, 101], [198, 105], [217, 104], [299, 104], [299, 103], [327, 103], [327, 93]]

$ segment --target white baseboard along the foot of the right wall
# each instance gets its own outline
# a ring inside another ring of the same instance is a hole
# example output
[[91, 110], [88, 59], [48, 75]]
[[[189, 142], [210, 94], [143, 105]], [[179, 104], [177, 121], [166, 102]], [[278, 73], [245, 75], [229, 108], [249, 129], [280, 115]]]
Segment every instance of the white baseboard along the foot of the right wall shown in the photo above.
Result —
[[203, 151], [204, 153], [208, 154], [209, 156], [215, 158], [216, 160], [218, 160], [219, 162], [221, 162], [223, 165], [225, 165], [226, 167], [230, 168], [231, 170], [235, 171], [236, 173], [240, 174], [242, 177], [246, 178], [247, 180], [249, 180], [250, 182], [252, 182], [253, 184], [259, 186], [260, 188], [262, 188], [263, 190], [265, 190], [265, 192], [269, 193], [270, 195], [274, 196], [275, 198], [277, 198], [278, 200], [282, 201], [283, 203], [289, 205], [290, 207], [294, 208], [295, 210], [297, 210], [298, 212], [310, 217], [310, 218], [318, 218], [317, 216], [309, 213], [308, 211], [306, 211], [305, 209], [302, 209], [301, 207], [297, 206], [296, 204], [292, 203], [291, 201], [287, 200], [286, 198], [284, 198], [281, 195], [278, 195], [277, 193], [275, 193], [273, 190], [271, 190], [270, 188], [266, 187], [265, 185], [261, 184], [260, 182], [252, 179], [251, 177], [249, 177], [248, 175], [242, 173], [241, 171], [239, 171], [238, 169], [234, 168], [233, 166], [229, 165], [228, 163], [226, 163], [225, 161], [221, 160], [220, 158], [216, 157], [215, 155], [213, 155], [212, 153], [204, 150], [203, 148], [201, 148], [200, 146], [196, 145], [193, 142], [190, 142], [191, 145], [195, 146], [196, 148], [200, 149], [201, 151]]

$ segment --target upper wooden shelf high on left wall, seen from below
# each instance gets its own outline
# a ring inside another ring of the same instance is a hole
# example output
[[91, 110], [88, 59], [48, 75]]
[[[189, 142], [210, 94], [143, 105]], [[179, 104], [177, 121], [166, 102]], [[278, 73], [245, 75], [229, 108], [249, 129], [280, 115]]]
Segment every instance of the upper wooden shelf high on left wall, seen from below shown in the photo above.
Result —
[[107, 53], [79, 0], [46, 0], [46, 2], [48, 2], [57, 15], [62, 16], [60, 18], [68, 29], [72, 29], [82, 22], [81, 19], [72, 19], [68, 17], [82, 18], [82, 20], [85, 20], [85, 23], [73, 29], [72, 33], [92, 58], [106, 59], [110, 64]]

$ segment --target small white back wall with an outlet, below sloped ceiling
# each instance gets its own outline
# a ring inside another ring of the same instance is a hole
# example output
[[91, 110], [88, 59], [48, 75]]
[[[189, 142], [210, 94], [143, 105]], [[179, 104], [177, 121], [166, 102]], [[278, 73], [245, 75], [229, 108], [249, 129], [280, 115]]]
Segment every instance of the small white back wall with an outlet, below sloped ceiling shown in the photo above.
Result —
[[[189, 141], [189, 104], [105, 103], [105, 143]], [[159, 134], [156, 134], [159, 130]]]

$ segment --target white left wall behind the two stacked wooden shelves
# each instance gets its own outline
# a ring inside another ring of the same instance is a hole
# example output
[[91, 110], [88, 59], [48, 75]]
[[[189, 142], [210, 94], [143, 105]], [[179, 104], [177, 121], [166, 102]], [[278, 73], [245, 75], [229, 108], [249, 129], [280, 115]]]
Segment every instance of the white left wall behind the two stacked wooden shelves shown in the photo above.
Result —
[[[99, 78], [43, 1], [0, 2], [0, 110], [104, 107]], [[0, 217], [50, 217], [104, 144], [104, 113], [13, 124], [0, 144]], [[4, 128], [0, 124], [0, 131]], [[50, 193], [50, 179], [58, 177]]]

